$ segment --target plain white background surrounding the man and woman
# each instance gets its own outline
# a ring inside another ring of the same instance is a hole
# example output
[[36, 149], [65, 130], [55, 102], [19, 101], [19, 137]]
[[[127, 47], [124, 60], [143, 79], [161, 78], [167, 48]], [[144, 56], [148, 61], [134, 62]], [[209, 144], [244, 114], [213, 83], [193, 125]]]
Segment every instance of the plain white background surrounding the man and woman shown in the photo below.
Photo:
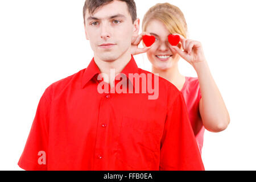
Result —
[[[255, 2], [135, 2], [141, 22], [155, 3], [178, 6], [187, 20], [189, 39], [203, 44], [231, 118], [225, 131], [205, 131], [205, 169], [255, 170]], [[1, 170], [21, 170], [17, 163], [44, 89], [86, 68], [93, 57], [85, 39], [83, 5], [84, 0], [0, 0]], [[145, 54], [135, 60], [150, 71]], [[179, 64], [183, 75], [196, 77], [185, 60]]]

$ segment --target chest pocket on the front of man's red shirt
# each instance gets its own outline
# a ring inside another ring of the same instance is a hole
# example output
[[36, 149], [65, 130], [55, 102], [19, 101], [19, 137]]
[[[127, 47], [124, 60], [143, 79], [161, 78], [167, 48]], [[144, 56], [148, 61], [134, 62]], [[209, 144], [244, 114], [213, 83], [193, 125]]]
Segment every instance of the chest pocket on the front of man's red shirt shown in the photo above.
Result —
[[158, 158], [160, 135], [150, 121], [123, 117], [117, 159], [135, 170], [149, 169]]

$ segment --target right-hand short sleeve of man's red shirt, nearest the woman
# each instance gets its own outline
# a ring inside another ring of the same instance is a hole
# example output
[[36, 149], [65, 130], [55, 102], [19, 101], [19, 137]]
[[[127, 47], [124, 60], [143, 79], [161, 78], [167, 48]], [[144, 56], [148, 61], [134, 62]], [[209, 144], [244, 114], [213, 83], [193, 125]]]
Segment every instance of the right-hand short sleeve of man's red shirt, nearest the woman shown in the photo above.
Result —
[[[171, 99], [168, 101], [171, 102]], [[160, 151], [160, 170], [204, 170], [181, 93], [168, 105]]]

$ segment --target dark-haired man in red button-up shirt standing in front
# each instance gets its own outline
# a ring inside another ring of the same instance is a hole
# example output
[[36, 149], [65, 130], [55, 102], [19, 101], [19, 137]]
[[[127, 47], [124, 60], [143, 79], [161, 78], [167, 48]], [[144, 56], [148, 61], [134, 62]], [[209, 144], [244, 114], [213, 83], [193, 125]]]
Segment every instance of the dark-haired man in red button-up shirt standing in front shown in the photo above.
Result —
[[[86, 0], [84, 19], [94, 57], [86, 69], [46, 89], [18, 165], [27, 170], [204, 170], [182, 94], [138, 68], [130, 54], [131, 39], [139, 32], [134, 1]], [[151, 84], [158, 92], [153, 98]]]

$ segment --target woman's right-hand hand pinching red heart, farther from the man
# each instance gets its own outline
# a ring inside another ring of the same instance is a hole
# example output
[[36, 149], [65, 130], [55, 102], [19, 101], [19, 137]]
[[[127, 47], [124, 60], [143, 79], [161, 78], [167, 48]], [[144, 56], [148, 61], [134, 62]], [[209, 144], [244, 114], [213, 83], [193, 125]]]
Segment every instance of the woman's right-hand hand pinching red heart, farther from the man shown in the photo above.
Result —
[[177, 52], [184, 60], [188, 61], [188, 63], [191, 64], [194, 68], [197, 63], [201, 63], [204, 61], [206, 62], [203, 46], [200, 42], [196, 40], [185, 39], [180, 34], [173, 35], [180, 36], [180, 43], [184, 51], [179, 49], [179, 47], [177, 46], [171, 46], [171, 44], [169, 44], [169, 47], [172, 52]]

